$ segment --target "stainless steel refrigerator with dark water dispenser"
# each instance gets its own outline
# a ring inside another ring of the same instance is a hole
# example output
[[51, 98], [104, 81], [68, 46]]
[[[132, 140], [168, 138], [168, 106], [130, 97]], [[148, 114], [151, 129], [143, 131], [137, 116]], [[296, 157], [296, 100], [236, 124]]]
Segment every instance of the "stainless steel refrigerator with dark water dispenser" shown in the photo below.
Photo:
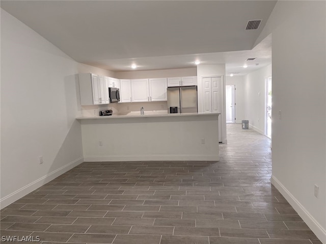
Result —
[[168, 87], [168, 113], [198, 113], [197, 86]]

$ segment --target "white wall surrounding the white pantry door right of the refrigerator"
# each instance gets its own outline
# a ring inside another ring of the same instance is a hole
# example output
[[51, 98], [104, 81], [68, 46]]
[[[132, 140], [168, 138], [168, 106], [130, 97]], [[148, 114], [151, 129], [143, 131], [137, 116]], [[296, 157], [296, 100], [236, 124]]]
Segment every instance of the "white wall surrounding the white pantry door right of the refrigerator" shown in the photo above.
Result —
[[222, 142], [227, 143], [226, 138], [226, 110], [225, 110], [225, 64], [197, 65], [197, 90], [198, 90], [198, 112], [203, 113], [203, 83], [205, 76], [223, 76], [222, 107], [219, 117], [219, 134], [222, 135]]

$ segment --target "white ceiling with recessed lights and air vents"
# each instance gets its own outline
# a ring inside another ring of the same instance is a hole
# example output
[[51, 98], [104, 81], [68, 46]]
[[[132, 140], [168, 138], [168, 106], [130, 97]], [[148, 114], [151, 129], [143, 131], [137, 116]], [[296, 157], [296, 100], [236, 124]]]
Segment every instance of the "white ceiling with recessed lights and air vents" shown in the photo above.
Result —
[[[1, 1], [1, 8], [80, 63], [112, 70], [226, 64], [246, 74], [271, 63], [254, 47], [276, 1]], [[246, 31], [249, 20], [262, 19]], [[257, 58], [255, 61], [245, 60]], [[247, 63], [247, 69], [242, 68]], [[256, 65], [259, 64], [259, 65]]]

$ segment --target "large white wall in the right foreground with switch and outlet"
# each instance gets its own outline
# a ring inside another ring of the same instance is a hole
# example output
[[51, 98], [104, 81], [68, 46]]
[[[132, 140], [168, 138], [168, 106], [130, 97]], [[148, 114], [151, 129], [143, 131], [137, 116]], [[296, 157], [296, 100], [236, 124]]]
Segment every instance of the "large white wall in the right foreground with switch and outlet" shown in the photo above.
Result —
[[[326, 243], [325, 10], [324, 1], [278, 1], [262, 32], [272, 33], [272, 181], [322, 243]], [[314, 184], [319, 186], [318, 198]]]

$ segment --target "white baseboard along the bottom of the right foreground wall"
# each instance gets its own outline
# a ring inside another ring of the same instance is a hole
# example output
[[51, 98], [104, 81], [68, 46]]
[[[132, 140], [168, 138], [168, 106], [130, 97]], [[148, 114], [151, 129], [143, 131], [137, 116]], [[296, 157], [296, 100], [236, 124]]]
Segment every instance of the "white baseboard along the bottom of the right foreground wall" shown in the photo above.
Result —
[[285, 186], [273, 175], [271, 183], [279, 190], [294, 210], [305, 221], [322, 243], [326, 243], [326, 230], [313, 218], [307, 209], [285, 188]]

